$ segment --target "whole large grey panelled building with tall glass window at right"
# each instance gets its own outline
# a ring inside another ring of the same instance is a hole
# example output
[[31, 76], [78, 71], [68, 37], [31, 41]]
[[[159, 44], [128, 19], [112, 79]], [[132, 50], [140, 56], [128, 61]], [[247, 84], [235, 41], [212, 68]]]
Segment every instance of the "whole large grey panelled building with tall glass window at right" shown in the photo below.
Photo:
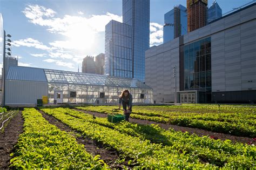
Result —
[[145, 83], [153, 88], [153, 100], [256, 104], [255, 25], [253, 3], [151, 47]]

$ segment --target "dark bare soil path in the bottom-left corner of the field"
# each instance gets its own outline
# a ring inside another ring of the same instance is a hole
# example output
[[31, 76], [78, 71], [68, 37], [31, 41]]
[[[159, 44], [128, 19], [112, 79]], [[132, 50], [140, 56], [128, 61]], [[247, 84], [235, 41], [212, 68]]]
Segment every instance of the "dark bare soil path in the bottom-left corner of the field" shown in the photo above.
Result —
[[10, 153], [17, 144], [19, 134], [23, 132], [23, 123], [22, 113], [19, 111], [4, 128], [4, 132], [0, 132], [0, 169], [9, 169]]

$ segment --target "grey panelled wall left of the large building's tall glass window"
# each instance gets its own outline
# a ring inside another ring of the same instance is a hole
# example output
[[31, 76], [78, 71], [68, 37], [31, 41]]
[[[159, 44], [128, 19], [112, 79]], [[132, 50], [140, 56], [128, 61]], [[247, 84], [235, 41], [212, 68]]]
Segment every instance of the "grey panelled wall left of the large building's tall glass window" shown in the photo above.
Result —
[[151, 47], [145, 54], [145, 83], [153, 88], [153, 100], [173, 102], [175, 78], [173, 67], [177, 66], [177, 91], [179, 91], [179, 38]]

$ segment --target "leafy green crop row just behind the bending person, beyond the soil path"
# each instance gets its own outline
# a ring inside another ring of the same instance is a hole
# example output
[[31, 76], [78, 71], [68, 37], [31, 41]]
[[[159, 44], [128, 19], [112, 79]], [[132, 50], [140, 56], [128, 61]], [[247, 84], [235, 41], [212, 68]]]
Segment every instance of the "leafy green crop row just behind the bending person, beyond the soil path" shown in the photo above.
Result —
[[[87, 107], [76, 107], [79, 110], [93, 111], [99, 113], [111, 114], [113, 108], [116, 106], [87, 106]], [[121, 113], [114, 112], [114, 113]], [[233, 114], [233, 113], [230, 113]], [[157, 111], [140, 111], [133, 109], [131, 117], [142, 120], [156, 121], [158, 123], [167, 123], [179, 126], [201, 128], [208, 131], [220, 132], [245, 137], [256, 137], [256, 120], [253, 118], [246, 118], [250, 115], [244, 115], [241, 117], [240, 114], [232, 115], [223, 113], [219, 114], [184, 114], [184, 113], [158, 113]], [[230, 117], [227, 118], [227, 115]]]

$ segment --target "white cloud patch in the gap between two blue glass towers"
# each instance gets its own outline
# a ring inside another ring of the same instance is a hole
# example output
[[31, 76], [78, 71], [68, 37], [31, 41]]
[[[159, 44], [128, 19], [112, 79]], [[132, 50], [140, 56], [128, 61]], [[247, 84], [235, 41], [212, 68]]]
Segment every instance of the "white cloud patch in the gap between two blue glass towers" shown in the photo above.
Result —
[[150, 46], [163, 43], [163, 29], [163, 25], [150, 23]]

